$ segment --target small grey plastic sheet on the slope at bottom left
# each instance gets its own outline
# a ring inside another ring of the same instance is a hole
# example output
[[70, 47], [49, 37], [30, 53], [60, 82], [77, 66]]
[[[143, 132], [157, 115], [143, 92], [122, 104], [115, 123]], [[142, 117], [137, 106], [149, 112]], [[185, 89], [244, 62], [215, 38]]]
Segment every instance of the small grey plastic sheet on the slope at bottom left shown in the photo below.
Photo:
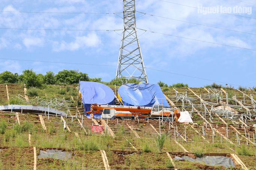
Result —
[[40, 150], [37, 158], [52, 158], [52, 159], [66, 160], [68, 158], [71, 158], [71, 153], [61, 151], [61, 150], [55, 150], [55, 149], [46, 150], [46, 151]]

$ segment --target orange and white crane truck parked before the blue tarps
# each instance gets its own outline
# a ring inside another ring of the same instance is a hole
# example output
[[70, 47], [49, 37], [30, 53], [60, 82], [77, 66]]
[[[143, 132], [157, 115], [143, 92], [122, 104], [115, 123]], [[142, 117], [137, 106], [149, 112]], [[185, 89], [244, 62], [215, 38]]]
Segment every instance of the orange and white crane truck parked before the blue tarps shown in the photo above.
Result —
[[180, 110], [173, 108], [166, 108], [162, 105], [155, 104], [153, 107], [144, 106], [116, 106], [116, 105], [101, 105], [92, 104], [90, 117], [93, 117], [96, 113], [101, 113], [102, 119], [162, 119], [167, 120], [175, 118], [176, 120], [180, 117]]

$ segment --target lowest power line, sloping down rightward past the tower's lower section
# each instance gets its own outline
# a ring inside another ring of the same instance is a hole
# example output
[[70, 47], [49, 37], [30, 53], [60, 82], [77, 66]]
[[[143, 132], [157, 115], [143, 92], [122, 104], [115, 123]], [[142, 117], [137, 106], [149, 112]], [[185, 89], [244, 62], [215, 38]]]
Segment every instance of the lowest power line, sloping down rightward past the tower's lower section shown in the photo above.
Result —
[[[40, 60], [7, 59], [7, 58], [0, 58], [0, 59], [1, 60], [24, 61], [24, 62], [42, 62], [42, 63], [56, 63], [56, 64], [75, 64], [75, 65], [86, 65], [86, 66], [116, 67], [116, 65], [114, 66], [114, 65], [107, 65], [107, 64], [85, 64], [85, 63], [68, 63], [68, 62], [50, 62], [50, 61], [40, 61]], [[150, 68], [150, 67], [145, 67], [145, 68], [146, 69], [150, 69], [150, 70], [159, 71], [159, 72], [165, 72], [165, 73], [175, 74], [175, 75], [179, 75], [179, 76], [185, 76], [185, 77], [189, 77], [189, 78], [201, 79], [201, 80], [205, 80], [205, 81], [211, 81], [211, 82], [218, 82], [218, 83], [223, 83], [223, 84], [236, 85], [236, 84], [231, 84], [231, 83], [226, 83], [226, 82], [221, 82], [221, 81], [216, 81], [216, 80], [210, 80], [210, 79], [204, 79], [204, 78], [199, 78], [199, 77], [195, 77], [195, 76], [188, 76], [188, 75], [183, 75], [183, 74], [179, 74], [179, 73], [168, 72], [168, 71], [159, 70], [159, 69], [153, 69], [153, 68]], [[236, 86], [240, 86], [240, 85], [236, 85]]]

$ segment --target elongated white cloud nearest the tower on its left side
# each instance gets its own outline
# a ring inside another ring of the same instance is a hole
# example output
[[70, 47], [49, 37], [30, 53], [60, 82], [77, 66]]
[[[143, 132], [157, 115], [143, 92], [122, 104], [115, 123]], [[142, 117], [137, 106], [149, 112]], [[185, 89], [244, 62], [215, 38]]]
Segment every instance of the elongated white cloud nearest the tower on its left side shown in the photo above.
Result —
[[63, 50], [78, 50], [85, 47], [98, 47], [101, 44], [100, 38], [95, 33], [89, 33], [87, 36], [76, 37], [73, 42], [67, 43], [65, 41], [54, 42], [54, 51]]

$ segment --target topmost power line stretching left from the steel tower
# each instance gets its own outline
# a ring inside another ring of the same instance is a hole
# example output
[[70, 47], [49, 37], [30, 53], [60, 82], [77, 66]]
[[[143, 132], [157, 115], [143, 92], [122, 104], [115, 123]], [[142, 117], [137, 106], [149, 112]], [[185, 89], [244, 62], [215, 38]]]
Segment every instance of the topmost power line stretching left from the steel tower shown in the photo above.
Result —
[[49, 14], [118, 14], [122, 12], [34, 12], [34, 11], [0, 11], [7, 13], [49, 13]]

